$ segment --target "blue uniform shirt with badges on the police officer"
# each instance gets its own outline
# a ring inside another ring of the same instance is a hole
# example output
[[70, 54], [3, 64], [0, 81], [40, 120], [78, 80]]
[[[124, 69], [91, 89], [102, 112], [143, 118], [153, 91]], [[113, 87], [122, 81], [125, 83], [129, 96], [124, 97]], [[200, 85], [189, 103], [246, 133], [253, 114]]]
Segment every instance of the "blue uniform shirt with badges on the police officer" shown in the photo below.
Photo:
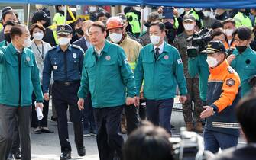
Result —
[[[83, 50], [79, 46], [70, 45], [63, 53], [60, 46], [53, 46], [44, 59], [43, 92], [49, 90], [51, 72], [53, 80], [70, 82], [80, 80], [83, 68]], [[65, 65], [66, 64], [66, 65]]]

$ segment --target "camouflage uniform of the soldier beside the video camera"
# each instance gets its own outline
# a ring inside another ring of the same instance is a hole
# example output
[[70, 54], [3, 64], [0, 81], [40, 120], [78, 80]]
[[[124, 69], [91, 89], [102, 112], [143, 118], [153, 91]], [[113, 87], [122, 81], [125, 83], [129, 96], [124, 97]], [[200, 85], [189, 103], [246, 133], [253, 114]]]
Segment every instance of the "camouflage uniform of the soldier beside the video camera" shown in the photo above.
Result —
[[179, 52], [184, 66], [184, 75], [186, 77], [186, 85], [188, 90], [188, 100], [183, 104], [183, 116], [186, 123], [193, 122], [192, 117], [192, 101], [194, 102], [194, 117], [199, 120], [200, 113], [203, 111], [202, 101], [199, 96], [199, 78], [196, 75], [195, 78], [191, 78], [188, 72], [188, 56], [186, 54], [187, 46], [191, 46], [191, 41], [187, 42], [187, 38], [190, 37], [186, 32], [181, 33], [173, 41], [173, 46], [175, 46]]

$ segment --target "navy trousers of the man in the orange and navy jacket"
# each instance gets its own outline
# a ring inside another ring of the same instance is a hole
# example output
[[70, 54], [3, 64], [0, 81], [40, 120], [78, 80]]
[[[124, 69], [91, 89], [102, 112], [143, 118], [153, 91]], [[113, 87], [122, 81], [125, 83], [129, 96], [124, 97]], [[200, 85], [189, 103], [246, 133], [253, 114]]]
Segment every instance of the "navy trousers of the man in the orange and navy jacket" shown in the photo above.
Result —
[[218, 133], [205, 129], [203, 132], [203, 140], [205, 150], [213, 154], [219, 151], [219, 148], [224, 150], [238, 145], [238, 136], [232, 136], [225, 133]]

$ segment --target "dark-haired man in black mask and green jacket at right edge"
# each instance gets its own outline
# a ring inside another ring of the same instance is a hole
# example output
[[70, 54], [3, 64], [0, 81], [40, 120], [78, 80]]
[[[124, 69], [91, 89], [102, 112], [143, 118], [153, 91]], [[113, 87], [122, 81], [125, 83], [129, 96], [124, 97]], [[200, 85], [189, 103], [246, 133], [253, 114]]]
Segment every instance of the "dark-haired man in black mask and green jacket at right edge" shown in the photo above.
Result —
[[239, 27], [233, 32], [235, 50], [228, 56], [228, 62], [241, 78], [241, 95], [244, 96], [253, 87], [250, 79], [256, 75], [256, 53], [251, 49], [251, 29]]

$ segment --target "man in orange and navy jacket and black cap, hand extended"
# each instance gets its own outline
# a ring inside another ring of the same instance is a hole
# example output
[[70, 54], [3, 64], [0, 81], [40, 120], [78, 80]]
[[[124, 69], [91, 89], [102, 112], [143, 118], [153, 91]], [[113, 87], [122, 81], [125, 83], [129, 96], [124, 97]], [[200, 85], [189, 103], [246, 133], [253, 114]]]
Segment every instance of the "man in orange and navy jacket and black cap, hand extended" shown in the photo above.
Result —
[[219, 148], [223, 150], [238, 144], [235, 105], [241, 98], [241, 82], [238, 73], [225, 59], [225, 46], [221, 41], [211, 41], [203, 53], [207, 53], [206, 62], [210, 70], [207, 106], [201, 113], [201, 118], [206, 118], [203, 138], [205, 149], [216, 153]]

